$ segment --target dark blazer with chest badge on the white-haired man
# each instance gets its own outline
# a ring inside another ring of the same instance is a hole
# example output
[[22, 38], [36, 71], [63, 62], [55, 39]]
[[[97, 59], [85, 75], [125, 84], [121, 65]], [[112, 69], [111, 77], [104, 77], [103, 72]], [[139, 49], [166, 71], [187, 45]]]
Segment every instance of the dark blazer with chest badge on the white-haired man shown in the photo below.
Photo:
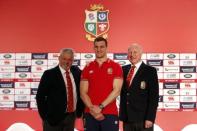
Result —
[[131, 86], [126, 86], [131, 65], [123, 66], [124, 82], [120, 95], [120, 120], [124, 122], [155, 121], [159, 100], [159, 84], [154, 67], [142, 62]]

